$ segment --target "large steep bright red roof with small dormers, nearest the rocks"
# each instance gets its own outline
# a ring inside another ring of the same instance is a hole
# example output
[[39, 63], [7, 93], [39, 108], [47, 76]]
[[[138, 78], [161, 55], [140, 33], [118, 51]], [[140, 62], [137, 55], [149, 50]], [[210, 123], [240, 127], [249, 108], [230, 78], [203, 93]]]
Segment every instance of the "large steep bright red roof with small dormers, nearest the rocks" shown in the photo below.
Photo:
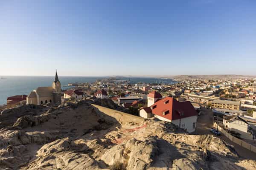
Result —
[[[178, 102], [172, 97], [160, 99], [151, 106], [151, 109], [153, 114], [169, 120], [183, 119], [198, 115], [191, 102]], [[163, 115], [163, 112], [165, 112], [165, 115]]]

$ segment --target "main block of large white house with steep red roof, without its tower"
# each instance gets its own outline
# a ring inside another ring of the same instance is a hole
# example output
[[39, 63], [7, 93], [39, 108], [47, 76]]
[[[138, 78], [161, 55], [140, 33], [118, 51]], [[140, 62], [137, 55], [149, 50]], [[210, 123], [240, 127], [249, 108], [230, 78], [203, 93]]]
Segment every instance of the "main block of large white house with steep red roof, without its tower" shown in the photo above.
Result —
[[191, 102], [178, 102], [172, 97], [166, 97], [151, 105], [154, 117], [172, 122], [191, 133], [195, 131], [198, 113]]

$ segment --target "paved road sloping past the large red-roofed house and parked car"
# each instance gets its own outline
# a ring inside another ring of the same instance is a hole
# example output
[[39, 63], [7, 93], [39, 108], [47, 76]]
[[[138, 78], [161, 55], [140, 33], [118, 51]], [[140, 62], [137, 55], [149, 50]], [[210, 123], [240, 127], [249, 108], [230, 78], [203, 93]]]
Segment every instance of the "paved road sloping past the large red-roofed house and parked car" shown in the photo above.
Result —
[[[197, 121], [197, 127], [195, 130], [195, 133], [197, 134], [212, 134], [210, 133], [209, 129], [213, 125], [213, 117], [212, 117], [212, 110], [202, 108], [201, 109], [201, 115], [198, 117]], [[239, 156], [244, 157], [245, 159], [254, 159], [256, 160], [256, 153], [251, 152], [250, 150], [245, 149], [244, 147], [241, 147], [240, 145], [230, 141], [226, 136], [221, 134], [221, 136], [218, 136], [220, 139], [223, 139], [228, 144], [231, 144], [234, 146], [236, 152], [239, 154]]]

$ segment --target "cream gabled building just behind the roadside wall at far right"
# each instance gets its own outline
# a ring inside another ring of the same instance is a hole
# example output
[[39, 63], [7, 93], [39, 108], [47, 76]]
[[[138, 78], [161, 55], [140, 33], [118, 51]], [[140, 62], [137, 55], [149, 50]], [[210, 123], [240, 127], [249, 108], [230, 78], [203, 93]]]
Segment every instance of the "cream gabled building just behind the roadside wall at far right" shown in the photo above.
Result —
[[223, 125], [225, 129], [239, 133], [243, 139], [253, 139], [253, 134], [249, 130], [249, 124], [239, 116], [223, 116]]

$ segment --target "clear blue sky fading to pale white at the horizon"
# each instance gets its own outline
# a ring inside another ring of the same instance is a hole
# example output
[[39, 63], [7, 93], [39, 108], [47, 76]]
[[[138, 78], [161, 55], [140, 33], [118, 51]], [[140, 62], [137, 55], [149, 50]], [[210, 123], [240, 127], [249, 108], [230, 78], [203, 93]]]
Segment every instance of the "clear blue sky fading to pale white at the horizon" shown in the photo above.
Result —
[[256, 0], [1, 0], [0, 75], [256, 75]]

